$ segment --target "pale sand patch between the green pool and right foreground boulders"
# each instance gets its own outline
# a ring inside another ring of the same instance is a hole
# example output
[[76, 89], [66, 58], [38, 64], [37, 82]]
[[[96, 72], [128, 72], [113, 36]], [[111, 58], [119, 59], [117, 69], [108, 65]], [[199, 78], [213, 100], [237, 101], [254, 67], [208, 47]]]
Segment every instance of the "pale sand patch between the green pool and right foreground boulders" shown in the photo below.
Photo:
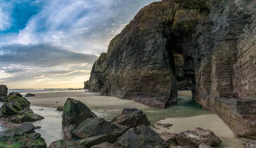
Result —
[[157, 123], [173, 124], [173, 126], [169, 127], [169, 129], [157, 125], [156, 127], [160, 129], [153, 128], [157, 133], [168, 131], [170, 133], [179, 134], [183, 131], [194, 130], [195, 128], [203, 128], [213, 131], [213, 133], [222, 140], [222, 143], [215, 148], [235, 148], [236, 145], [244, 143], [244, 141], [237, 139], [233, 134], [233, 131], [231, 131], [231, 129], [221, 120], [221, 118], [215, 114], [186, 118], [167, 118], [165, 120], [160, 120]]

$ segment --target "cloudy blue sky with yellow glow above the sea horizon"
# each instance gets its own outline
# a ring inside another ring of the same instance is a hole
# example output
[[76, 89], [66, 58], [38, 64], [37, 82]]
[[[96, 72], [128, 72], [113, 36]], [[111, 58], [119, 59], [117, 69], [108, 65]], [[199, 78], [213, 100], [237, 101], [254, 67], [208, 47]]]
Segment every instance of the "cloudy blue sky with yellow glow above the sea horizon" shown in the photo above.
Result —
[[0, 84], [83, 88], [93, 63], [157, 0], [0, 0]]

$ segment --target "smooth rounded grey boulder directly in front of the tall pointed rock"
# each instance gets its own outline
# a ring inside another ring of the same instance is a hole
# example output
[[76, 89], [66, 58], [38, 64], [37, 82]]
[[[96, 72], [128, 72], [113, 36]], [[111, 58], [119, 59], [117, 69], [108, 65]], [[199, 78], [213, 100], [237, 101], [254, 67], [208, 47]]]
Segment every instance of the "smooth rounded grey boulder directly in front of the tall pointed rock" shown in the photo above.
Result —
[[85, 139], [102, 134], [111, 134], [117, 130], [119, 130], [117, 125], [103, 118], [88, 118], [73, 130], [72, 133], [75, 137]]

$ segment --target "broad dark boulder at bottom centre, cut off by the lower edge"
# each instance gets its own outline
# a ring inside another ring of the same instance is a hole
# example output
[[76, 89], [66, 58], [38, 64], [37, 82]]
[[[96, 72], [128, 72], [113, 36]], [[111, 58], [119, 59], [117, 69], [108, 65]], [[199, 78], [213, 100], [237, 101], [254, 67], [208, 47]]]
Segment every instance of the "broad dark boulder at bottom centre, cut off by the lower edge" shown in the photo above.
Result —
[[169, 145], [153, 129], [144, 125], [129, 129], [116, 140], [115, 145], [125, 148], [169, 148]]

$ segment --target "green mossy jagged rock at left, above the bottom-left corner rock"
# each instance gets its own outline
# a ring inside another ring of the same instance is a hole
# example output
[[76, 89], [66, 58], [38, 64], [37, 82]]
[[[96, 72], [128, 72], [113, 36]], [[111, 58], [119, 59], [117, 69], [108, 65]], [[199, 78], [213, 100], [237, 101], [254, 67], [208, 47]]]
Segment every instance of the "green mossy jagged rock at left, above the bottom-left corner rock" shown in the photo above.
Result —
[[[21, 96], [21, 97], [20, 97]], [[5, 99], [2, 113], [14, 123], [31, 122], [44, 119], [43, 116], [34, 114], [30, 109], [30, 102], [21, 94], [12, 92]]]

